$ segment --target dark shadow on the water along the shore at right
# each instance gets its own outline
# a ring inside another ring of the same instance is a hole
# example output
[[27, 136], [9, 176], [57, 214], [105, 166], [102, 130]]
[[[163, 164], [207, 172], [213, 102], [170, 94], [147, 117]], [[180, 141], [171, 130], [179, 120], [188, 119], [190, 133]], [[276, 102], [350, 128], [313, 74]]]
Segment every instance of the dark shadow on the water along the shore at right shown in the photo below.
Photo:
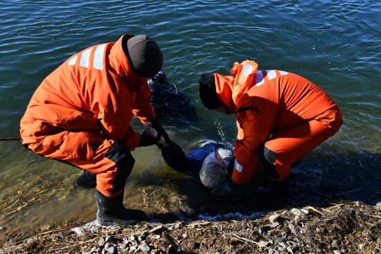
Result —
[[[314, 158], [319, 156], [320, 159]], [[200, 214], [216, 216], [230, 212], [250, 215], [252, 212], [274, 211], [301, 206], [328, 206], [341, 201], [362, 201], [375, 205], [381, 200], [381, 154], [337, 155], [331, 152], [312, 152], [292, 167], [285, 181], [267, 180], [258, 165], [253, 180], [233, 197], [214, 197], [199, 180], [181, 177], [172, 180], [177, 197], [183, 197], [184, 213], [153, 212], [160, 221], [197, 219]], [[322, 159], [324, 158], [324, 159]]]

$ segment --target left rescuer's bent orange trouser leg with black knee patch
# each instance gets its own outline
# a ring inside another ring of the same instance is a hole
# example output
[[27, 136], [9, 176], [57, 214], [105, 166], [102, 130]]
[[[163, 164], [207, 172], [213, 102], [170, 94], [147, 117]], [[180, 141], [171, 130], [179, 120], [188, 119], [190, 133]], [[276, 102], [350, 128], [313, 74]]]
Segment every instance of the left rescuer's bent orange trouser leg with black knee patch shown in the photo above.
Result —
[[125, 180], [134, 166], [130, 150], [121, 142], [99, 132], [62, 131], [46, 136], [28, 148], [46, 158], [54, 158], [96, 173], [96, 188], [108, 197], [123, 192]]

